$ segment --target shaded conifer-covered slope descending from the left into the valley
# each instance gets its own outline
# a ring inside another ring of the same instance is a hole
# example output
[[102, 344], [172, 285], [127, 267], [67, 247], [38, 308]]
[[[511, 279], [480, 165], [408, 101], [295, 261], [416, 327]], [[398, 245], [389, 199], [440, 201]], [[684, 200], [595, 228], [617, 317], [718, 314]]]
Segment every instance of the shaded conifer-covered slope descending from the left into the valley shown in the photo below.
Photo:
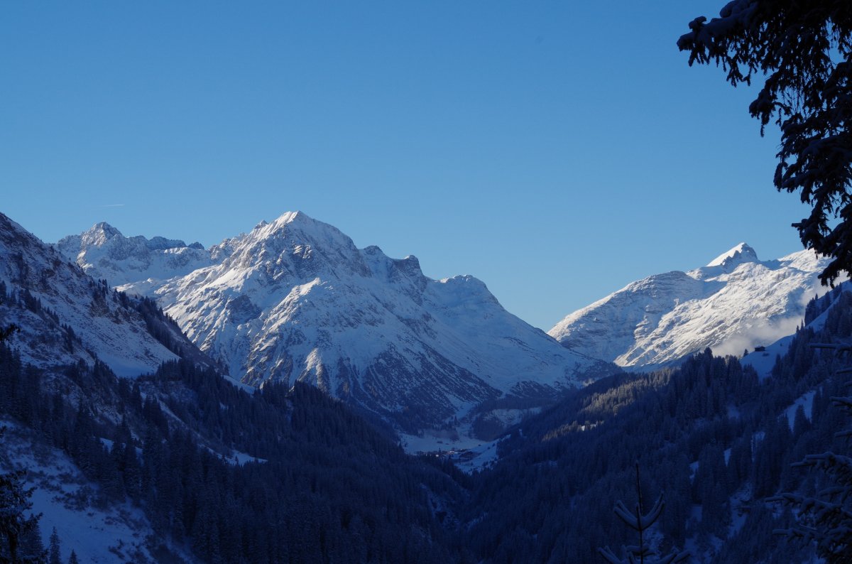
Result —
[[311, 386], [249, 394], [186, 360], [132, 382], [102, 363], [47, 374], [16, 341], [0, 342], [0, 473], [26, 469], [45, 544], [55, 526], [87, 562], [461, 560], [441, 523], [464, 476]]

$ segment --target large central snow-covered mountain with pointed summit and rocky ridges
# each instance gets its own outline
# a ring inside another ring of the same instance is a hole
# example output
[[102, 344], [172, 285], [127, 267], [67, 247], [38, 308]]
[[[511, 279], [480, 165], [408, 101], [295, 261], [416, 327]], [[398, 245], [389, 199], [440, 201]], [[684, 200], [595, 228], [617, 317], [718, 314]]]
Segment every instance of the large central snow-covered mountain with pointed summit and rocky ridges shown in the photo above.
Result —
[[128, 262], [104, 268], [104, 249], [126, 243], [104, 224], [98, 230], [112, 235], [83, 233], [59, 248], [111, 285], [156, 297], [193, 342], [254, 386], [308, 381], [419, 427], [502, 396], [552, 396], [614, 370], [506, 312], [480, 280], [429, 279], [416, 257], [358, 249], [301, 212], [211, 247], [196, 257], [210, 264], [191, 273], [159, 269], [162, 283]]

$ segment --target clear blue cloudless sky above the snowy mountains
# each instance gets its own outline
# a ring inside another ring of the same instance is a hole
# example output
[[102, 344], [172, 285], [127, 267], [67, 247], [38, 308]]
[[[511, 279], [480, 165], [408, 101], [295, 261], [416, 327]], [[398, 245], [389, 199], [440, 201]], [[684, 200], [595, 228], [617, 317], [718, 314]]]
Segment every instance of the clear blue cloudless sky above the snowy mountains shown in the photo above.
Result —
[[302, 210], [547, 330], [801, 248], [755, 89], [676, 49], [723, 3], [3, 3], [0, 210], [204, 245]]

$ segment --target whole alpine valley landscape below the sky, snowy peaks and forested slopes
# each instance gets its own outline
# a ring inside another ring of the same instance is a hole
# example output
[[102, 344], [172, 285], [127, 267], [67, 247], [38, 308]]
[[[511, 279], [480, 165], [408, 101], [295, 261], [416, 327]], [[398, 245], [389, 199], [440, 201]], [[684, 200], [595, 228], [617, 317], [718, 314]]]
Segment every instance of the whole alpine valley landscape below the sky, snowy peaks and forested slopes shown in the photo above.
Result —
[[831, 561], [831, 464], [791, 466], [849, 452], [822, 265], [737, 245], [548, 335], [301, 212], [209, 249], [0, 215], [0, 561], [594, 562], [638, 492], [646, 561]]

